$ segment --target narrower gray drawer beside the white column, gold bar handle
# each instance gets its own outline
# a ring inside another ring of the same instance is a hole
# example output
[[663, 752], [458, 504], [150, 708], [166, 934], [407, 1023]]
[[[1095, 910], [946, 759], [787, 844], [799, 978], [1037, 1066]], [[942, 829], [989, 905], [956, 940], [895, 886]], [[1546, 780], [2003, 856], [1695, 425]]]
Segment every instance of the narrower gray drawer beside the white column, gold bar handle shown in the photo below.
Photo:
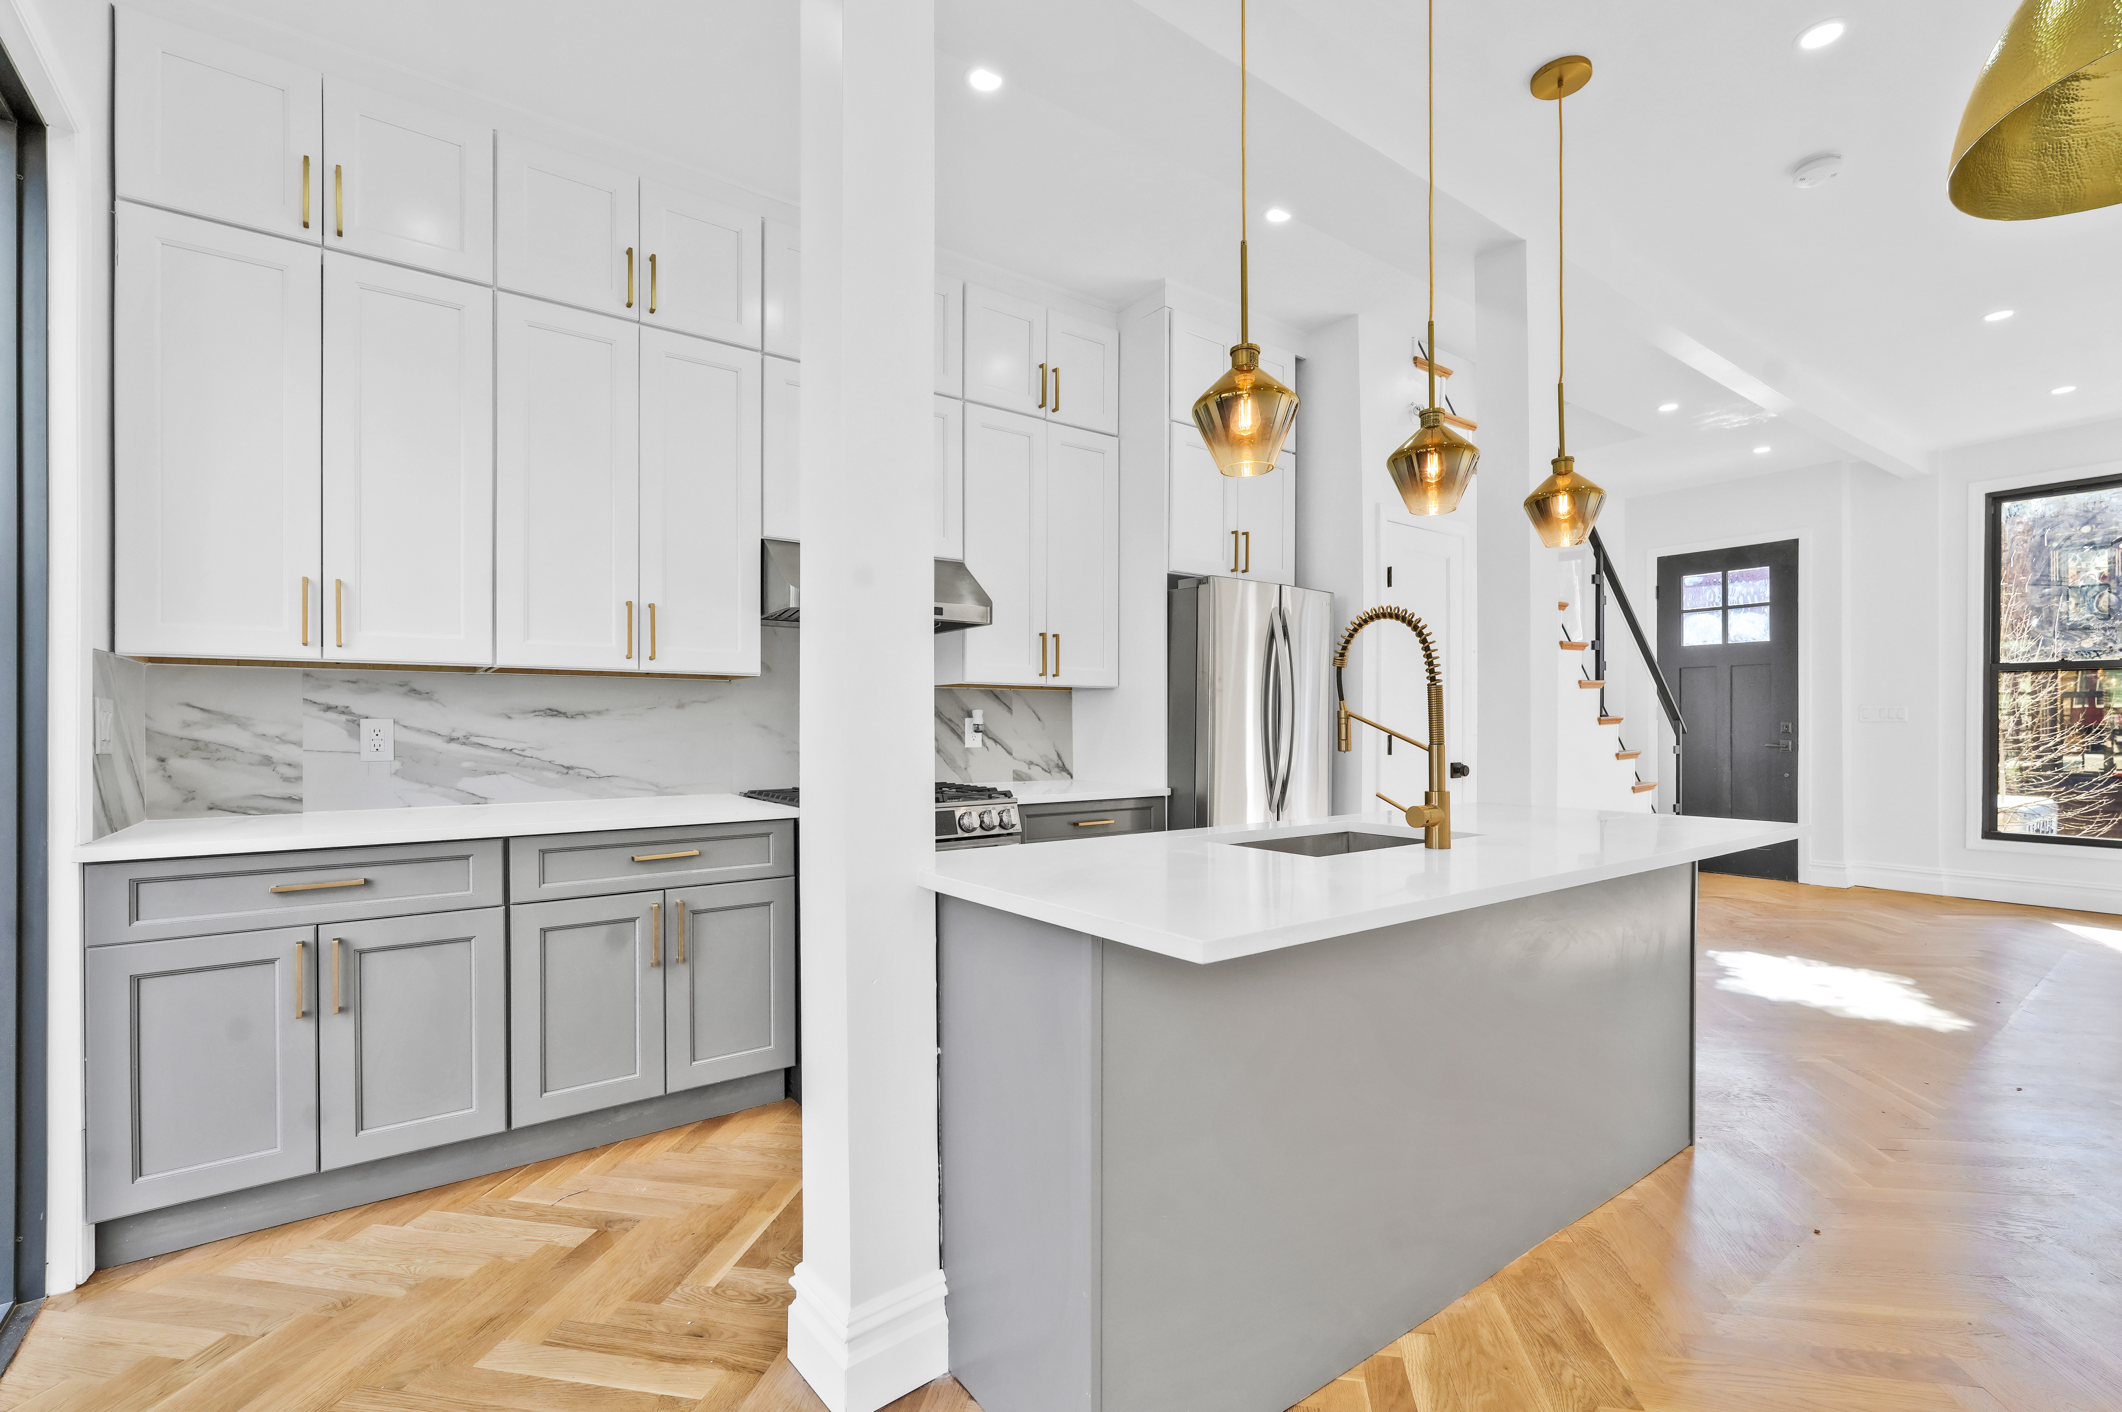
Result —
[[509, 840], [511, 903], [794, 873], [796, 825], [789, 818]]

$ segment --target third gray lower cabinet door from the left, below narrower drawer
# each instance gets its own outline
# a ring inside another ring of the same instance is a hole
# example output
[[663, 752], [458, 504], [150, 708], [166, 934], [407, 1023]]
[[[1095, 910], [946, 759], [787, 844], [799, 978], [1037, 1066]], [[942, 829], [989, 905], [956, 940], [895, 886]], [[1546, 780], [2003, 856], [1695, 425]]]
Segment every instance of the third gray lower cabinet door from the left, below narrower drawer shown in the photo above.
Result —
[[509, 907], [509, 1126], [664, 1092], [662, 893]]

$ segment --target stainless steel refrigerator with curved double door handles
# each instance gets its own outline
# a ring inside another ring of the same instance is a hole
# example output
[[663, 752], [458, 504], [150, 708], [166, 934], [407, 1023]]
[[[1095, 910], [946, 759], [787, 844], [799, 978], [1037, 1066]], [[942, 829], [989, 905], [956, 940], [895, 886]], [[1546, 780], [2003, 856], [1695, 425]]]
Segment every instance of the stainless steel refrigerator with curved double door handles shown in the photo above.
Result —
[[1333, 594], [1252, 579], [1171, 587], [1171, 827], [1333, 812]]

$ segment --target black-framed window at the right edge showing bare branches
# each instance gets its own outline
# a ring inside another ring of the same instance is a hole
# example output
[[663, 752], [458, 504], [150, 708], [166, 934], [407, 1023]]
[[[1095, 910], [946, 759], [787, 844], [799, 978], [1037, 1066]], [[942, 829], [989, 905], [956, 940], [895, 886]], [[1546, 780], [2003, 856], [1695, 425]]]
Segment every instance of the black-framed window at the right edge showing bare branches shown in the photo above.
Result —
[[2122, 848], [2122, 477], [1988, 498], [1982, 837]]

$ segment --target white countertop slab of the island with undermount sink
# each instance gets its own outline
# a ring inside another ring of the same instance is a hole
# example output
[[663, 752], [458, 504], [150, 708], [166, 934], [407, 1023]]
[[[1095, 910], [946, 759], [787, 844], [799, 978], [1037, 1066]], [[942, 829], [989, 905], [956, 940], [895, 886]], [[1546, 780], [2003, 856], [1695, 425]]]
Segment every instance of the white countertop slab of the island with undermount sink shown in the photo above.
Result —
[[1373, 926], [1715, 859], [1799, 837], [1797, 825], [1676, 814], [1462, 806], [1451, 848], [1303, 857], [1241, 848], [1299, 833], [1413, 833], [1347, 814], [1303, 825], [938, 852], [936, 893], [1180, 960], [1231, 960]]

